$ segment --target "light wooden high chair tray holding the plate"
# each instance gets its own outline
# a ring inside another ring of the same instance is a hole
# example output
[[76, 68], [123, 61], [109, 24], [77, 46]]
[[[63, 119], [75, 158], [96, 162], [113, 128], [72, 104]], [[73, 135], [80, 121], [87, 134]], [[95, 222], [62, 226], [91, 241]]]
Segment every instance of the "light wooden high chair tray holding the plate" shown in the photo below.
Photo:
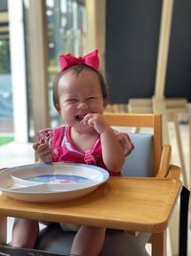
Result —
[[175, 179], [111, 177], [93, 193], [71, 201], [32, 203], [2, 194], [0, 215], [162, 233], [180, 190]]

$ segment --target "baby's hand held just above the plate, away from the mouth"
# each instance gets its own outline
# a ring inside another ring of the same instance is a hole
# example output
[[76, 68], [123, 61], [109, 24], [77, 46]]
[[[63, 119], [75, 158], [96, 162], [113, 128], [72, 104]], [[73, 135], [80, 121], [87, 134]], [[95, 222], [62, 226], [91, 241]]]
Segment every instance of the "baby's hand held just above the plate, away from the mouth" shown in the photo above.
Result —
[[49, 163], [53, 161], [52, 149], [45, 139], [40, 139], [33, 144], [33, 150], [39, 156], [40, 162]]

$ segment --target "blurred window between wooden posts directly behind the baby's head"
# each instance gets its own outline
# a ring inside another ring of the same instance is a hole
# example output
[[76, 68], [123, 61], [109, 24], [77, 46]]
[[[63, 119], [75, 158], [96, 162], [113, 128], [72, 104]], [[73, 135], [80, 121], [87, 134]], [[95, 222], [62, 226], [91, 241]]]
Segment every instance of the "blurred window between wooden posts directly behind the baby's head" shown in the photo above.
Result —
[[84, 1], [47, 0], [47, 29], [49, 40], [49, 91], [52, 127], [61, 122], [53, 106], [53, 81], [59, 71], [58, 56], [83, 54], [86, 37]]

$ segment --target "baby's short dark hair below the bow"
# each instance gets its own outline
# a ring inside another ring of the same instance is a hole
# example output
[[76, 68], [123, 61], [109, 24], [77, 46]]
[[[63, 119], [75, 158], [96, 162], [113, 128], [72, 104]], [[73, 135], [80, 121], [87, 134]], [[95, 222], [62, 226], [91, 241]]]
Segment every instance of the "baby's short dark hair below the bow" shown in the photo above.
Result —
[[55, 78], [55, 81], [53, 82], [53, 105], [56, 109], [57, 109], [57, 105], [59, 103], [58, 102], [58, 94], [57, 94], [57, 85], [58, 85], [60, 78], [70, 70], [72, 70], [77, 77], [84, 69], [92, 71], [96, 74], [96, 77], [100, 83], [103, 99], [108, 100], [107, 83], [106, 83], [106, 80], [103, 77], [103, 75], [98, 70], [93, 69], [90, 66], [87, 66], [85, 64], [78, 64], [78, 65], [69, 67], [69, 68], [65, 69], [64, 71], [59, 72]]

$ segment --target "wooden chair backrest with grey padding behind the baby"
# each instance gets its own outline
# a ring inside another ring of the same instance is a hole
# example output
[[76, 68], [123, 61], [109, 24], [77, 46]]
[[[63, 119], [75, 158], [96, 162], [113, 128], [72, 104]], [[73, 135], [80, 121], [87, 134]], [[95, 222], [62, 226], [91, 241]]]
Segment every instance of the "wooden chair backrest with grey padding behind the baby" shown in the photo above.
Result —
[[129, 133], [135, 144], [135, 150], [127, 157], [122, 174], [129, 176], [158, 175], [162, 152], [161, 115], [104, 113], [104, 118], [111, 127], [152, 128], [150, 134]]

